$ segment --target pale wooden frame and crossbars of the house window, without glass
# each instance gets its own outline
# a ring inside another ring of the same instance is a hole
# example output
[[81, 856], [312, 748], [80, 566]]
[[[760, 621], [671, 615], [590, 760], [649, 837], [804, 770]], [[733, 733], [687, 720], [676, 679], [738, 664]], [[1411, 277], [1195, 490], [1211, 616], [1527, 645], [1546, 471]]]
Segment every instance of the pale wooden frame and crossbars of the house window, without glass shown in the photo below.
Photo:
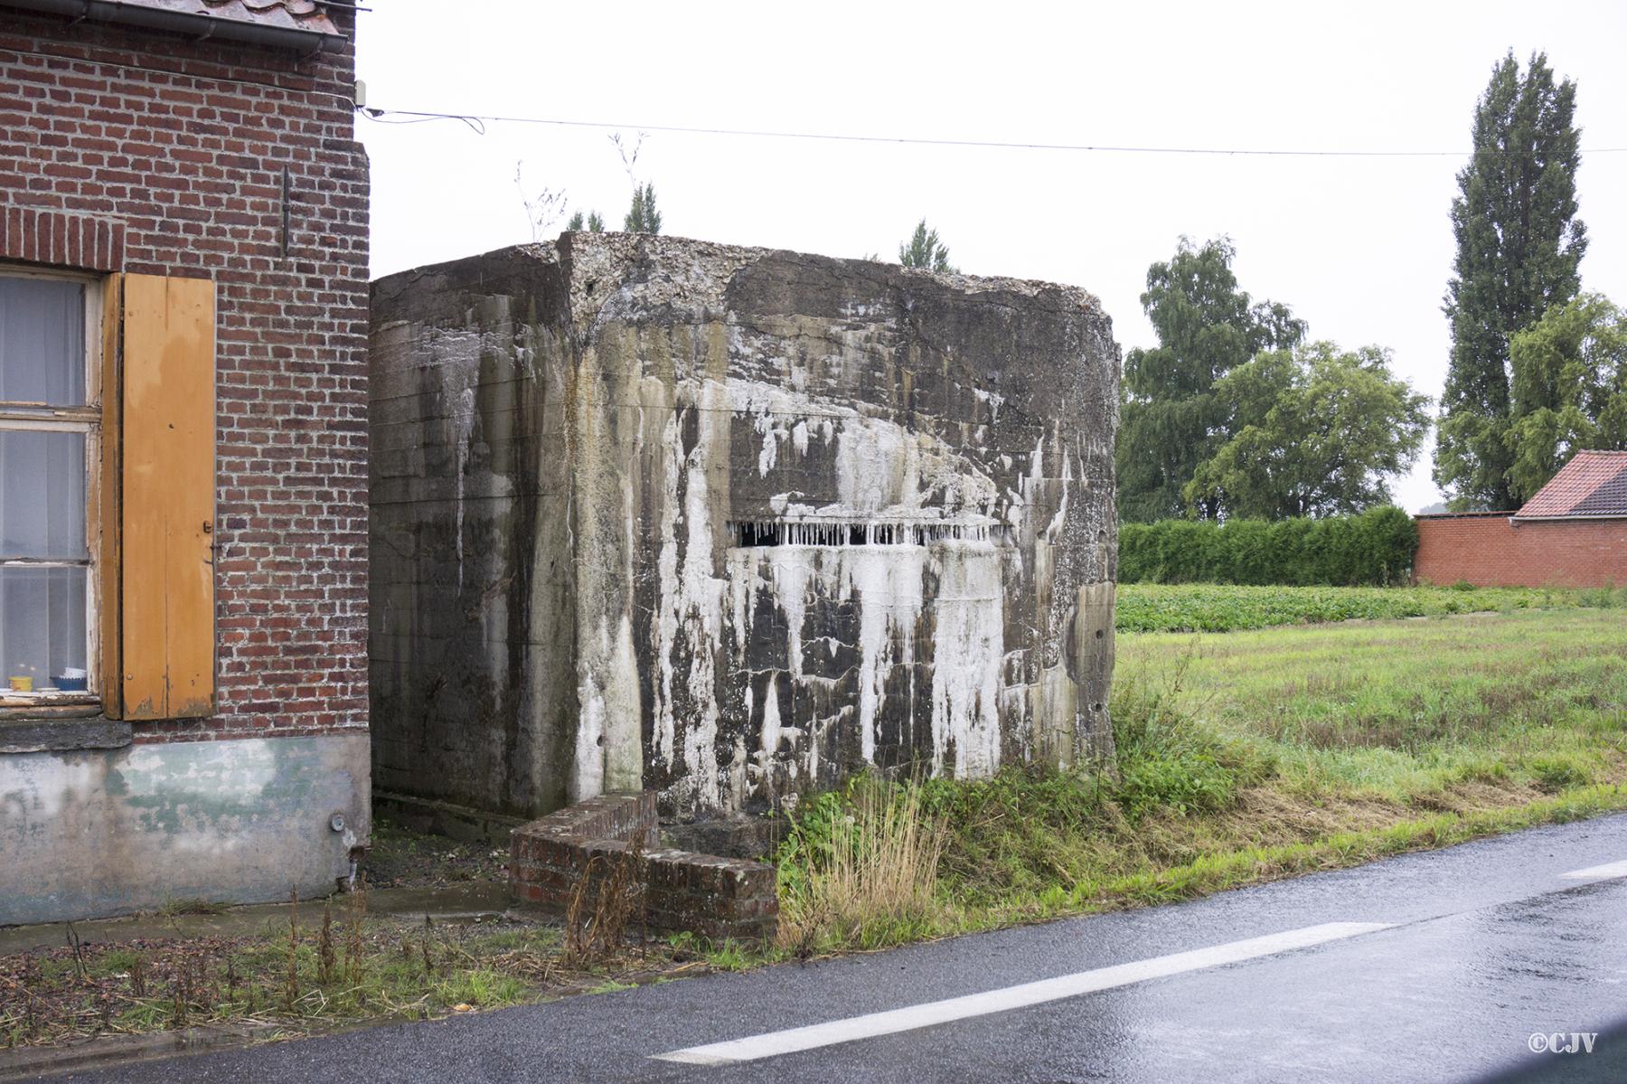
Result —
[[[39, 708], [93, 705], [101, 702], [101, 488], [103, 488], [103, 278], [68, 270], [0, 264], [5, 278], [54, 278], [85, 286], [85, 405], [50, 407], [0, 400], [0, 430], [85, 433], [85, 562], [0, 560], [5, 568], [85, 568], [85, 671], [86, 690], [36, 695], [29, 703], [0, 703], [0, 718], [37, 715]], [[0, 698], [11, 698], [0, 674]]]

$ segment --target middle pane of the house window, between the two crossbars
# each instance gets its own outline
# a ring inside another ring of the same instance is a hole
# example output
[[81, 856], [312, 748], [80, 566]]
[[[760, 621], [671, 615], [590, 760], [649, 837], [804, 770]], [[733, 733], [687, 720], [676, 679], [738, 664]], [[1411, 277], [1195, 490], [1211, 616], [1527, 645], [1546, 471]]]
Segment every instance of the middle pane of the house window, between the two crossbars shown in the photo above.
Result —
[[89, 560], [85, 433], [0, 430], [0, 558]]

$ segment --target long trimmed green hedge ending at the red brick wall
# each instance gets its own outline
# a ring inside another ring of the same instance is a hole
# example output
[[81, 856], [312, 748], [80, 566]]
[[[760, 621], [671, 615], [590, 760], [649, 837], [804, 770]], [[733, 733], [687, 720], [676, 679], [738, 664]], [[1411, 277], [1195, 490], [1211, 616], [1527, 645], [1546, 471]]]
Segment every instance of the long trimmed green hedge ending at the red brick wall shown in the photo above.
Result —
[[1399, 508], [1329, 519], [1119, 526], [1119, 583], [1401, 584], [1419, 529]]

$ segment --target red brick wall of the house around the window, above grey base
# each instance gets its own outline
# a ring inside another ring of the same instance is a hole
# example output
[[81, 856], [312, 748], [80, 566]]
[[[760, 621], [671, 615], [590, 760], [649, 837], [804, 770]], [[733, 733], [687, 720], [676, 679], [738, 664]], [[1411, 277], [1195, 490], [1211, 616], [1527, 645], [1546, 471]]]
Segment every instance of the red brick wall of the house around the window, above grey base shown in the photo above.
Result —
[[368, 163], [353, 81], [350, 50], [0, 7], [0, 259], [216, 283], [220, 713], [137, 724], [137, 741], [368, 724]]

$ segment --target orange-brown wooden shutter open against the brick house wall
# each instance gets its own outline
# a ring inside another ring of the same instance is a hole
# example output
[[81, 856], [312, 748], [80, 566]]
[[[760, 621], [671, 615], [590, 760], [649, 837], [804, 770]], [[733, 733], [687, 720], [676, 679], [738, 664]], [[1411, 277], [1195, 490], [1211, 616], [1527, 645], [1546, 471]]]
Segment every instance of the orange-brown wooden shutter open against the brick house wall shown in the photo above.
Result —
[[124, 275], [122, 308], [107, 684], [125, 719], [198, 718], [215, 711], [215, 283]]

